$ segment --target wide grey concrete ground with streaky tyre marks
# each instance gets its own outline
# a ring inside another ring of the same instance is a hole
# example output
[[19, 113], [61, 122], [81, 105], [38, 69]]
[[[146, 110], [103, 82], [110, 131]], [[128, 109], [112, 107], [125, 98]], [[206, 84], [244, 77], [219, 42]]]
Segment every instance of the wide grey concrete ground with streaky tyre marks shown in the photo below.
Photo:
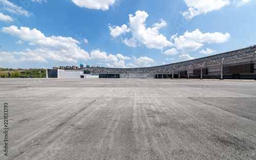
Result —
[[0, 79], [0, 159], [256, 159], [256, 81]]

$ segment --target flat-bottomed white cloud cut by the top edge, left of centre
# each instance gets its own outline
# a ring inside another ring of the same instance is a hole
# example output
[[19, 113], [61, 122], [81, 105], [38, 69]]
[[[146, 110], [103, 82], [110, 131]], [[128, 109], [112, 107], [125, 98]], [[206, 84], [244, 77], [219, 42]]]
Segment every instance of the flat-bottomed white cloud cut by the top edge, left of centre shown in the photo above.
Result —
[[108, 10], [109, 6], [115, 3], [115, 0], [72, 0], [72, 2], [79, 7]]

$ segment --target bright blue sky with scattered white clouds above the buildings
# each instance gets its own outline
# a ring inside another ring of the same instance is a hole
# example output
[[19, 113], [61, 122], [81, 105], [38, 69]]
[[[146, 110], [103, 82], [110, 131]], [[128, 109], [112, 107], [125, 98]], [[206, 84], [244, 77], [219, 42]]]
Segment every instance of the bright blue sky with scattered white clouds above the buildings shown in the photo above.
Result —
[[0, 67], [146, 67], [256, 44], [254, 0], [0, 0]]

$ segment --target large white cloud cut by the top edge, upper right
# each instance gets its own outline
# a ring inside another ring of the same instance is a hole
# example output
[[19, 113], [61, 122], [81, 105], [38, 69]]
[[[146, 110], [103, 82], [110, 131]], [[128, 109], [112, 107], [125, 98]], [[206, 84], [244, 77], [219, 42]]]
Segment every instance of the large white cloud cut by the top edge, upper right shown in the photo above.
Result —
[[182, 15], [189, 19], [202, 13], [219, 10], [222, 7], [230, 4], [229, 0], [184, 0], [184, 2], [189, 8], [187, 11], [183, 12]]

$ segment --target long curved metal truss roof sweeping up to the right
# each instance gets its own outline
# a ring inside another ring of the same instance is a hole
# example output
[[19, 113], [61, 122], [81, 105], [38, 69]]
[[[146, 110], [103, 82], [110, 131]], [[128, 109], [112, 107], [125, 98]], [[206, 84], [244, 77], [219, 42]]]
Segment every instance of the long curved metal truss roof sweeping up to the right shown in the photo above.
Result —
[[[109, 68], [109, 67], [84, 67], [81, 70], [91, 71], [91, 73], [171, 73], [173, 71], [187, 70], [192, 65], [203, 67], [205, 64], [217, 63], [222, 64], [231, 59], [239, 59], [243, 62], [250, 63], [253, 58], [256, 58], [256, 45], [253, 45], [248, 48], [243, 48], [240, 50], [225, 52], [217, 55], [211, 55], [207, 57], [202, 57], [198, 59], [165, 64], [160, 66], [152, 66], [152, 67], [139, 67], [139, 68]], [[250, 59], [248, 61], [248, 59]]]

